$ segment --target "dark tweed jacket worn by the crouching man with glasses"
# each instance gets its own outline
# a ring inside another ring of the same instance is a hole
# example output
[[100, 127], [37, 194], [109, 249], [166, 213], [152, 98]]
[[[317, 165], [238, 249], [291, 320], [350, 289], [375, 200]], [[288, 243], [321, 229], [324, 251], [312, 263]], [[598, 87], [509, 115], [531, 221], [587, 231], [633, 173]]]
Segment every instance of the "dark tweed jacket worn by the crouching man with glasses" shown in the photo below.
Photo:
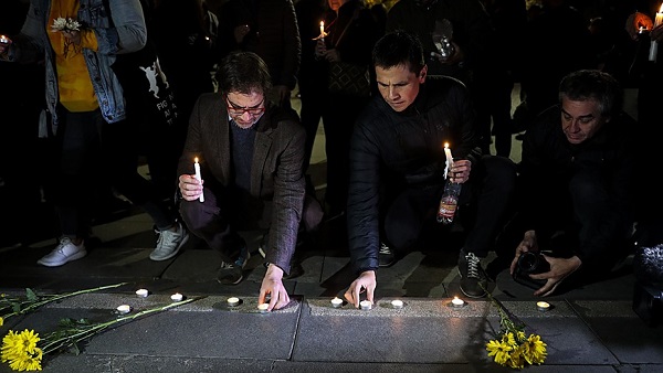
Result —
[[[177, 174], [193, 174], [193, 158], [198, 157], [206, 186], [232, 184], [229, 126], [223, 96], [218, 93], [201, 95], [191, 114]], [[255, 126], [251, 205], [262, 207], [256, 213], [270, 222], [266, 260], [287, 274], [304, 203], [305, 134], [292, 115], [272, 104]]]

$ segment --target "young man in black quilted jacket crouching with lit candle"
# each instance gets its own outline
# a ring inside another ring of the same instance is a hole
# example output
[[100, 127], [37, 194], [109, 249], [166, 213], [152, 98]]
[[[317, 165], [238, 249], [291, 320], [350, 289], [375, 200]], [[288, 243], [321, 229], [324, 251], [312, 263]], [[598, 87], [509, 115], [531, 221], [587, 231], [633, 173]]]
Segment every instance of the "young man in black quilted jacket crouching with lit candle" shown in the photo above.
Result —
[[402, 31], [385, 35], [372, 58], [380, 96], [360, 115], [350, 145], [348, 238], [359, 276], [345, 297], [358, 307], [366, 290], [372, 301], [378, 267], [393, 263], [394, 249], [415, 245], [425, 225], [436, 224], [445, 142], [454, 156], [449, 180], [462, 184], [462, 214], [471, 217], [464, 222], [470, 233], [459, 258], [461, 289], [483, 297], [486, 277], [480, 258], [502, 228], [515, 166], [507, 158], [482, 157], [465, 85], [451, 77], [428, 78], [415, 36]]

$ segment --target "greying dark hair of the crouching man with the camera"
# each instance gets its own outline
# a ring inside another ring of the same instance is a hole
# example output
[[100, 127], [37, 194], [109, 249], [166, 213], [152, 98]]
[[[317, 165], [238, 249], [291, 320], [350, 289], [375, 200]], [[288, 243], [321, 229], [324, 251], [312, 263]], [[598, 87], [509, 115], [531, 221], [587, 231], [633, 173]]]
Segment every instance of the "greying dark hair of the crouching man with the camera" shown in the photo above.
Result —
[[598, 70], [579, 70], [559, 83], [559, 102], [566, 97], [575, 102], [593, 99], [602, 116], [612, 116], [622, 108], [622, 90], [614, 77]]

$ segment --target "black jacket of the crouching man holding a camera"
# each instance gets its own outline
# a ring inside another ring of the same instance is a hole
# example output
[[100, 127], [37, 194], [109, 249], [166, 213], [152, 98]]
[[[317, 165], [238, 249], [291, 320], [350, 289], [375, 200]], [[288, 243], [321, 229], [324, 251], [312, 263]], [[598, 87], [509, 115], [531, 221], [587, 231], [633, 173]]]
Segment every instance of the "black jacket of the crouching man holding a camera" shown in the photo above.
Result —
[[[635, 122], [625, 114], [613, 118], [590, 139], [580, 145], [568, 142], [560, 124], [560, 108], [554, 106], [544, 111], [535, 125], [527, 130], [523, 141], [523, 158], [518, 164], [522, 221], [525, 230], [539, 232], [550, 230], [546, 223], [546, 200], [554, 193], [556, 199], [568, 194], [570, 179], [578, 172], [599, 178], [608, 191], [610, 209], [602, 214], [590, 239], [580, 242], [577, 255], [583, 263], [590, 264], [606, 253], [606, 248], [622, 239], [624, 232], [632, 227], [633, 178], [635, 150], [629, 134], [635, 132]], [[557, 209], [571, 205], [568, 201], [559, 203]], [[573, 216], [557, 226], [578, 224]], [[551, 235], [555, 232], [547, 232]], [[628, 233], [628, 232], [625, 232]]]

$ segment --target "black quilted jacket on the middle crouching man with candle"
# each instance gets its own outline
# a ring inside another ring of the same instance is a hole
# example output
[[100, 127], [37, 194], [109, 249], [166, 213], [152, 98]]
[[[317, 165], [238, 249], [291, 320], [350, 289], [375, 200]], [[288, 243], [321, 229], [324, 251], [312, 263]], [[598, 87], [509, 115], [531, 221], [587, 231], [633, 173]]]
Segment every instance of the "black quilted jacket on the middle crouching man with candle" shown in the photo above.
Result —
[[373, 97], [356, 122], [350, 145], [348, 238], [355, 269], [378, 268], [379, 190], [444, 183], [444, 142], [454, 159], [480, 159], [475, 113], [466, 87], [451, 77], [429, 78], [414, 103], [394, 111]]

